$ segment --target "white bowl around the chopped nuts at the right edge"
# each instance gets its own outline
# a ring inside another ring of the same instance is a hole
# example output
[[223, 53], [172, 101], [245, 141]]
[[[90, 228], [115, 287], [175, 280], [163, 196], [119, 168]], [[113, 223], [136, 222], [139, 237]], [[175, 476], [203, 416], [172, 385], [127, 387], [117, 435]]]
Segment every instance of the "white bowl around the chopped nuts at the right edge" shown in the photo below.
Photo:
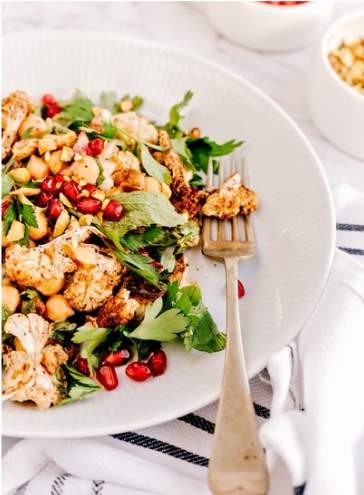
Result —
[[352, 36], [364, 37], [364, 10], [338, 19], [318, 44], [309, 70], [308, 104], [321, 133], [342, 151], [364, 160], [364, 95], [345, 83], [328, 59]]

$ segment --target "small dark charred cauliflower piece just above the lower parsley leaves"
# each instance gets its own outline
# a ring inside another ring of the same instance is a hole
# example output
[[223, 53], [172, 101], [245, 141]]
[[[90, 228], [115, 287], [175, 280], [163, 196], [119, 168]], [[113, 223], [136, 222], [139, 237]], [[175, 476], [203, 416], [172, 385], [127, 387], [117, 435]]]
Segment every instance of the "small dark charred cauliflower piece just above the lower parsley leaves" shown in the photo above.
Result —
[[135, 316], [139, 303], [130, 298], [130, 292], [121, 288], [115, 297], [108, 299], [100, 309], [97, 324], [100, 327], [125, 325]]

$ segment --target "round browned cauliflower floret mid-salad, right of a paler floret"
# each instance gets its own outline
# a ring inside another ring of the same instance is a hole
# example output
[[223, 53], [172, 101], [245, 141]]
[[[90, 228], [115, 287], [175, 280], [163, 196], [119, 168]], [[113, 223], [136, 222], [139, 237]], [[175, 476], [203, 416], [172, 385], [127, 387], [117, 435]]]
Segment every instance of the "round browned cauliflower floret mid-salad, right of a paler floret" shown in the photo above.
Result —
[[80, 265], [63, 295], [75, 310], [93, 311], [112, 295], [125, 268], [108, 249], [91, 244], [84, 246], [92, 252], [96, 266], [85, 269]]

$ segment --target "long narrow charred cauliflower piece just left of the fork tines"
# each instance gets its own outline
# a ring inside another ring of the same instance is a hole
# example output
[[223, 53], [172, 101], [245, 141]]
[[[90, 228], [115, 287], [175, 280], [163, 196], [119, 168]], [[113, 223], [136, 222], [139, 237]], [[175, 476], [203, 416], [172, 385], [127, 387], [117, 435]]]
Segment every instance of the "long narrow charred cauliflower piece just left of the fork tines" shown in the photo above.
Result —
[[194, 218], [200, 210], [200, 201], [188, 183], [188, 171], [179, 155], [173, 150], [171, 140], [166, 131], [159, 132], [159, 144], [167, 151], [162, 153], [163, 162], [172, 173], [170, 201], [177, 213], [187, 214]]

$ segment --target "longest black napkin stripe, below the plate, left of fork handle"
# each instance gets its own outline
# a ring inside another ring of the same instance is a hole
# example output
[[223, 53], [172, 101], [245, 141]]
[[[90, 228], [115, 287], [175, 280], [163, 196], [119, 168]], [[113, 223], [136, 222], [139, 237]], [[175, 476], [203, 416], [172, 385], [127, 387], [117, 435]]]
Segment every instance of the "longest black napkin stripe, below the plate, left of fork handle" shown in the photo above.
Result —
[[197, 454], [193, 454], [188, 450], [180, 449], [175, 445], [171, 445], [167, 442], [162, 442], [156, 438], [147, 437], [145, 435], [139, 435], [132, 431], [127, 433], [120, 433], [118, 435], [112, 435], [113, 438], [122, 440], [123, 442], [128, 442], [133, 445], [138, 445], [145, 449], [155, 450], [156, 452], [161, 452], [162, 454], [167, 454], [176, 459], [181, 459], [182, 461], [190, 462], [191, 464], [196, 464], [197, 466], [207, 467], [209, 460], [207, 457], [202, 457]]

